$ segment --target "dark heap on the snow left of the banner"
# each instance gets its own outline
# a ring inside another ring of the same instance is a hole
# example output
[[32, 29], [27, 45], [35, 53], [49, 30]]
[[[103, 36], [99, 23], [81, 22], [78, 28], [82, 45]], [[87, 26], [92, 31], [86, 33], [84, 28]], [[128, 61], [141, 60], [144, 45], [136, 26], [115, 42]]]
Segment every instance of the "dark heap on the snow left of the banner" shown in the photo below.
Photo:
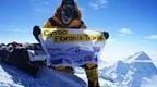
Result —
[[12, 44], [9, 44], [5, 48], [0, 47], [0, 60], [5, 64], [14, 65], [31, 75], [36, 75], [39, 69], [41, 69], [45, 64], [45, 61], [29, 60], [28, 50], [36, 49], [36, 46], [39, 45], [32, 44], [27, 46], [13, 46]]

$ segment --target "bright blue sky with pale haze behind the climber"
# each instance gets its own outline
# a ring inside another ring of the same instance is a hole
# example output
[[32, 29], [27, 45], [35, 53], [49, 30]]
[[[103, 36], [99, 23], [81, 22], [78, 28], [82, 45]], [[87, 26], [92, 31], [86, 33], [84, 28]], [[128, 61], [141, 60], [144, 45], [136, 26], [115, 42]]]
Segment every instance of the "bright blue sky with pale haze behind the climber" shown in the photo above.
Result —
[[[35, 42], [61, 0], [1, 0], [0, 42]], [[76, 0], [89, 29], [110, 33], [102, 59], [118, 60], [138, 51], [157, 58], [157, 0]], [[110, 60], [109, 60], [110, 61]]]

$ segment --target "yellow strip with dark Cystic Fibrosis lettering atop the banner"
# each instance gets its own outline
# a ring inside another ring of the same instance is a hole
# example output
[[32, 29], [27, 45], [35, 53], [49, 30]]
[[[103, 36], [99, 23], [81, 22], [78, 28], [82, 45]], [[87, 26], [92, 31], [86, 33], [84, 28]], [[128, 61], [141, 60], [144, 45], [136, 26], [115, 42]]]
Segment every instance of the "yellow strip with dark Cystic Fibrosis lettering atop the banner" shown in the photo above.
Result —
[[[85, 34], [85, 33], [69, 33], [67, 29], [43, 29], [43, 38], [46, 40], [51, 38], [53, 42], [74, 42], [74, 41], [104, 41], [102, 34]], [[77, 32], [77, 30], [75, 30]]]

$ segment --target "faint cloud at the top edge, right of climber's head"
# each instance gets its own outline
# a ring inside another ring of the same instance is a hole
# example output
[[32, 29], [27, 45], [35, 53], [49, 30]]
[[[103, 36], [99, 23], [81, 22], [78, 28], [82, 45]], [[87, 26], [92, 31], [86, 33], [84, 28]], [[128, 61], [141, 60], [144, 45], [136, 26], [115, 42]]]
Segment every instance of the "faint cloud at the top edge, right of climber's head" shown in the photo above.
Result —
[[92, 7], [94, 10], [107, 8], [108, 0], [92, 0], [89, 3], [89, 7]]

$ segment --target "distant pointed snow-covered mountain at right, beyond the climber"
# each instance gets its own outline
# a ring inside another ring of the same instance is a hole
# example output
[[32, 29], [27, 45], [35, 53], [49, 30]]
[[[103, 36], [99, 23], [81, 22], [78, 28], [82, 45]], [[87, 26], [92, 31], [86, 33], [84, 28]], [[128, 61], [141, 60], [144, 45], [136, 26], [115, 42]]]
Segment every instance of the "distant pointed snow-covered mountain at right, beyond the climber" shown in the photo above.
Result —
[[157, 69], [145, 52], [135, 53], [125, 61], [118, 61], [113, 66], [104, 69], [101, 74], [102, 78], [118, 87], [143, 87], [144, 82], [155, 76]]

